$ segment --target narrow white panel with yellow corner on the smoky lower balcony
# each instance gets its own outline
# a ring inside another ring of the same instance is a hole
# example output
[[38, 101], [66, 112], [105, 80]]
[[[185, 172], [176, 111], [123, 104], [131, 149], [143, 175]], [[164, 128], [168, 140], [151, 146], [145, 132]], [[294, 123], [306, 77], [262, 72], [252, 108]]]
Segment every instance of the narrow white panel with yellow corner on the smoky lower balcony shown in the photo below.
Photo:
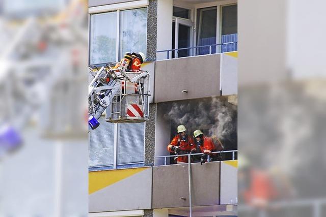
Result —
[[221, 162], [221, 204], [238, 203], [238, 161]]

